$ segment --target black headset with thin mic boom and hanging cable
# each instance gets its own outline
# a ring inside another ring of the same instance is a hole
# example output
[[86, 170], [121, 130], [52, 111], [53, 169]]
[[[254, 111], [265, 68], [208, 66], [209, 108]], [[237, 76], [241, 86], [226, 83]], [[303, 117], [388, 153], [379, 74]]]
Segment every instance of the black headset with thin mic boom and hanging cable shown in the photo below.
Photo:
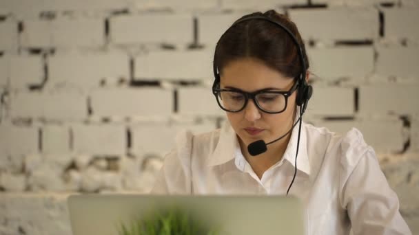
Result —
[[[305, 110], [307, 109], [307, 104], [309, 99], [311, 98], [311, 95], [313, 93], [313, 87], [311, 87], [311, 85], [307, 84], [307, 81], [305, 80], [306, 78], [306, 71], [307, 71], [307, 65], [305, 63], [305, 56], [303, 54], [303, 49], [300, 45], [300, 43], [298, 43], [298, 40], [296, 38], [296, 36], [294, 36], [294, 34], [287, 28], [285, 27], [285, 25], [279, 23], [278, 21], [274, 21], [274, 19], [270, 19], [267, 16], [245, 16], [242, 19], [239, 19], [238, 21], [234, 22], [224, 33], [223, 35], [220, 37], [223, 38], [224, 34], [226, 32], [229, 31], [230, 28], [234, 27], [235, 25], [238, 25], [239, 23], [242, 23], [243, 21], [250, 21], [250, 20], [262, 20], [262, 21], [268, 21], [274, 25], [276, 25], [277, 27], [280, 27], [280, 29], [284, 30], [285, 32], [287, 32], [287, 34], [289, 35], [290, 38], [292, 38], [292, 41], [294, 41], [294, 44], [297, 47], [298, 50], [298, 57], [300, 58], [300, 63], [301, 63], [301, 71], [300, 71], [300, 75], [296, 76], [296, 82], [297, 82], [297, 96], [296, 96], [296, 104], [300, 107], [300, 117], [298, 118], [297, 122], [300, 122], [299, 125], [299, 130], [298, 130], [298, 142], [297, 142], [297, 153], [296, 153], [296, 157], [295, 157], [295, 170], [294, 170], [294, 177], [292, 179], [292, 182], [289, 184], [288, 190], [287, 190], [287, 194], [289, 192], [289, 189], [291, 188], [292, 184], [294, 183], [294, 179], [296, 177], [296, 172], [297, 172], [297, 156], [298, 156], [298, 147], [300, 145], [300, 133], [301, 133], [301, 122], [303, 121], [303, 114], [305, 113]], [[219, 41], [218, 41], [219, 43]], [[218, 45], [217, 43], [217, 45]], [[214, 63], [213, 63], [213, 70], [214, 70], [214, 84], [212, 85], [212, 91], [214, 93], [214, 96], [216, 96], [216, 92], [215, 89], [217, 89], [217, 87], [219, 87], [220, 85], [220, 74], [218, 71], [218, 67], [217, 67], [217, 63], [216, 63], [216, 56], [214, 53]], [[297, 123], [296, 122], [296, 123]], [[285, 133], [285, 135], [287, 135], [290, 131], [292, 131], [292, 129], [294, 128], [294, 126], [296, 126], [296, 123], [292, 126], [292, 128]], [[285, 137], [285, 135], [283, 135], [282, 137]], [[282, 137], [280, 137], [279, 139], [281, 139]], [[279, 140], [276, 139], [275, 141]], [[274, 141], [274, 142], [275, 142]], [[263, 142], [263, 141], [261, 141]], [[270, 142], [269, 144], [271, 144], [272, 142]], [[256, 142], [255, 142], [256, 144]], [[260, 144], [260, 143], [258, 143]], [[266, 150], [266, 144], [265, 142], [263, 142], [263, 146], [264, 146], [264, 150]], [[263, 152], [262, 152], [263, 153]]]

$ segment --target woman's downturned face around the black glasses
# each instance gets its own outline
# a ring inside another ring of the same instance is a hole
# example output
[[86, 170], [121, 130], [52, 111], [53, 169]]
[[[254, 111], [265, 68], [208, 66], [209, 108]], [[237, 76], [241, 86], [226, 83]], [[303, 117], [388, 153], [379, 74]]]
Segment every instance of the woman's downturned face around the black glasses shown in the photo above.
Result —
[[[254, 92], [272, 88], [275, 91], [289, 91], [292, 85], [292, 78], [286, 78], [260, 60], [252, 58], [228, 63], [221, 74], [221, 89], [235, 88]], [[259, 139], [271, 142], [287, 133], [294, 122], [295, 100], [296, 92], [288, 98], [287, 109], [283, 113], [264, 113], [251, 99], [242, 111], [227, 112], [228, 120], [236, 131], [241, 146], [247, 146]]]

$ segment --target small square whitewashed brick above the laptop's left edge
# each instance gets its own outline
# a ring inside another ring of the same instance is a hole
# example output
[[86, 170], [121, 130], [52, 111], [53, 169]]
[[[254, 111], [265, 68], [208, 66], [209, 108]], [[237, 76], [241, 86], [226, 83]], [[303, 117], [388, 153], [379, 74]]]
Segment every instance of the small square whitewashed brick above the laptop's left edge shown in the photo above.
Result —
[[42, 127], [42, 153], [60, 154], [70, 152], [70, 129], [67, 126]]

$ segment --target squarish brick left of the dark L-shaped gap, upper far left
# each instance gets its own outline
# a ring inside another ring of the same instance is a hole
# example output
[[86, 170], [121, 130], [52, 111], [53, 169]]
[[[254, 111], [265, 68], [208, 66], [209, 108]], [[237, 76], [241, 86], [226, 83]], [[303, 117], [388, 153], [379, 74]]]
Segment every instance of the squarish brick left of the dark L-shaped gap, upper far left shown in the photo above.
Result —
[[45, 73], [41, 56], [12, 56], [10, 65], [10, 87], [13, 89], [28, 90], [30, 85], [42, 84]]

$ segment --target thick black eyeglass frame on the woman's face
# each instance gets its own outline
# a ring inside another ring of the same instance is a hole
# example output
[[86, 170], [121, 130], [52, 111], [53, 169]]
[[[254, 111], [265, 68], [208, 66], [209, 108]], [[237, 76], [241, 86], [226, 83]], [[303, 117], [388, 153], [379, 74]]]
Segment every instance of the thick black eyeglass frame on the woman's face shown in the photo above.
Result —
[[[298, 88], [298, 80], [297, 79], [294, 79], [294, 80], [295, 80], [294, 85], [292, 85], [292, 87], [291, 87], [291, 89], [289, 89], [289, 91], [269, 91], [269, 90], [263, 90], [262, 89], [260, 91], [246, 92], [246, 91], [242, 91], [240, 89], [219, 89], [218, 87], [220, 87], [220, 84], [218, 83], [216, 86], [214, 86], [212, 88], [212, 93], [214, 94], [214, 96], [217, 100], [218, 106], [221, 109], [223, 109], [224, 111], [227, 111], [227, 112], [230, 112], [230, 113], [238, 113], [238, 112], [242, 111], [243, 109], [245, 109], [245, 107], [247, 106], [247, 102], [249, 102], [249, 99], [252, 99], [254, 104], [256, 105], [256, 107], [258, 107], [258, 109], [260, 111], [263, 111], [264, 113], [272, 113], [272, 114], [283, 113], [283, 111], [287, 110], [289, 96], [292, 96], [292, 93], [294, 93], [294, 91], [296, 91], [297, 88]], [[238, 109], [238, 110], [235, 110], [235, 111], [224, 109], [223, 105], [221, 105], [220, 100], [218, 99], [218, 98], [221, 98], [221, 97], [218, 96], [218, 94], [221, 91], [234, 91], [236, 93], [243, 94], [243, 96], [245, 97], [245, 103], [243, 104], [243, 107], [241, 109]], [[281, 110], [281, 111], [278, 111], [278, 112], [266, 111], [266, 110], [262, 109], [262, 107], [259, 106], [259, 103], [256, 100], [256, 96], [260, 93], [275, 93], [275, 94], [283, 95], [285, 97], [285, 107], [284, 107], [284, 109]]]

